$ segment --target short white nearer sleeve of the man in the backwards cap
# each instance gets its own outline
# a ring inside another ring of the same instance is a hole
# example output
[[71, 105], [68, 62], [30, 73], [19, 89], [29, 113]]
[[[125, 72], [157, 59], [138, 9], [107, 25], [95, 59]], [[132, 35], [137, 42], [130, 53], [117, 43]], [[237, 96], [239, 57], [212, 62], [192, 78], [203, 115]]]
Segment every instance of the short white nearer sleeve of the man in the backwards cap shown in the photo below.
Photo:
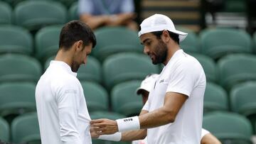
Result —
[[181, 61], [171, 74], [166, 92], [177, 92], [190, 96], [196, 83], [197, 74], [200, 73], [193, 67], [193, 62]]

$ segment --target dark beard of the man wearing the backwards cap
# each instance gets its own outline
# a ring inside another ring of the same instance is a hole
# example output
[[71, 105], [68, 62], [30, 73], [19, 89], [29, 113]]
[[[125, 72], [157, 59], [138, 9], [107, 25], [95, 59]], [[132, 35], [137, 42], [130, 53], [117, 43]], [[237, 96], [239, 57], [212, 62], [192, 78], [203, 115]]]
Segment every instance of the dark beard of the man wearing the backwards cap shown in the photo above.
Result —
[[158, 45], [154, 48], [156, 50], [156, 60], [152, 61], [154, 65], [159, 63], [164, 63], [166, 61], [168, 48], [167, 45], [163, 42], [163, 40], [159, 40]]

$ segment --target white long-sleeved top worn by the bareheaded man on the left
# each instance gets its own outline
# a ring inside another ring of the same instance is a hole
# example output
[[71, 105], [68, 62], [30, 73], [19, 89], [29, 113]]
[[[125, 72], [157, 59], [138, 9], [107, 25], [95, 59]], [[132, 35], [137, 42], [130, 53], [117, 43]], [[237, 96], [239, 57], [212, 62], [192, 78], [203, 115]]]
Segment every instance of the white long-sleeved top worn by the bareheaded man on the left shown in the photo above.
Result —
[[91, 144], [82, 86], [65, 62], [51, 61], [36, 86], [42, 144]]

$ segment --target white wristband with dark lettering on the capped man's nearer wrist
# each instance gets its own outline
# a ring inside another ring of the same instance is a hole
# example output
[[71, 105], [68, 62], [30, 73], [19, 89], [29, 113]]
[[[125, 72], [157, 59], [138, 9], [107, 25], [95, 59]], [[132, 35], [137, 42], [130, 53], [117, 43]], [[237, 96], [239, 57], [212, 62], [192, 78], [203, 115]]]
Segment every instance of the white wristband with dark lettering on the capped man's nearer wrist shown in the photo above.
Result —
[[116, 121], [119, 132], [139, 130], [140, 128], [138, 116], [117, 119]]

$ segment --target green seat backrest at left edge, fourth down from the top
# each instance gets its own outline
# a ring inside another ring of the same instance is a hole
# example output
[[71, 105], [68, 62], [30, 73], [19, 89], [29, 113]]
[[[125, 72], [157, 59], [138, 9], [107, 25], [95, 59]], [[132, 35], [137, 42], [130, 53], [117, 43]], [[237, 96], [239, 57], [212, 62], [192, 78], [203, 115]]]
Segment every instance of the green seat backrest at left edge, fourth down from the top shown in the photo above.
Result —
[[36, 84], [7, 82], [0, 84], [0, 116], [36, 111]]

